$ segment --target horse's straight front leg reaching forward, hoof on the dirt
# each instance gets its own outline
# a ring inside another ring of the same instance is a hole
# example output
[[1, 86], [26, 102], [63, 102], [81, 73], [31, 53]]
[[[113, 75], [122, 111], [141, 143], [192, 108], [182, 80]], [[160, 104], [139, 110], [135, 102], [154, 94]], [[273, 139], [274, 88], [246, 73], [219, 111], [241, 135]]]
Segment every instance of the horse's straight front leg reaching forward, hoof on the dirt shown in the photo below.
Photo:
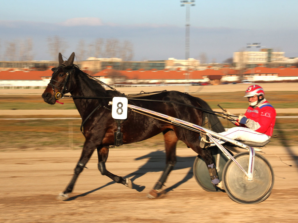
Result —
[[72, 192], [79, 174], [83, 171], [84, 167], [89, 161], [95, 147], [96, 146], [94, 145], [94, 143], [91, 143], [90, 141], [87, 141], [87, 140], [85, 141], [84, 148], [82, 150], [80, 160], [78, 161], [77, 166], [75, 167], [72, 180], [68, 184], [65, 191], [63, 191], [58, 195], [58, 197], [56, 197], [58, 200], [68, 200], [69, 194]]

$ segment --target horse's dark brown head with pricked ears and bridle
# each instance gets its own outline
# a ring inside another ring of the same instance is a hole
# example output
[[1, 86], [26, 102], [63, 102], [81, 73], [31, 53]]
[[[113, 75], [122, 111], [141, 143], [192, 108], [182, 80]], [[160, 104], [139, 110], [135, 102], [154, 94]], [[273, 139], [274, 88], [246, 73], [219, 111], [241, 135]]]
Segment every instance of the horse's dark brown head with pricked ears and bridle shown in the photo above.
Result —
[[61, 53], [58, 56], [59, 66], [52, 68], [53, 74], [50, 83], [44, 90], [42, 98], [46, 103], [55, 104], [56, 100], [69, 92], [69, 78], [75, 72], [73, 65], [75, 53], [73, 52], [68, 60], [63, 61]]

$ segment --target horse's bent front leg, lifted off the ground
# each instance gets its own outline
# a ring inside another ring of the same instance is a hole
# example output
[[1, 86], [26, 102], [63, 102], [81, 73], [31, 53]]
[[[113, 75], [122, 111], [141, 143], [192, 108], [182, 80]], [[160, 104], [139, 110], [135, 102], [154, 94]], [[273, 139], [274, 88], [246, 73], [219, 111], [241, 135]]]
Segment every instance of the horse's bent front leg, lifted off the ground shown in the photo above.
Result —
[[101, 174], [108, 176], [109, 178], [114, 180], [116, 183], [122, 183], [123, 185], [132, 189], [132, 183], [129, 178], [123, 179], [122, 177], [112, 174], [105, 168], [105, 162], [108, 159], [108, 154], [109, 154], [108, 147], [102, 147], [102, 146], [97, 147], [98, 169], [101, 172]]

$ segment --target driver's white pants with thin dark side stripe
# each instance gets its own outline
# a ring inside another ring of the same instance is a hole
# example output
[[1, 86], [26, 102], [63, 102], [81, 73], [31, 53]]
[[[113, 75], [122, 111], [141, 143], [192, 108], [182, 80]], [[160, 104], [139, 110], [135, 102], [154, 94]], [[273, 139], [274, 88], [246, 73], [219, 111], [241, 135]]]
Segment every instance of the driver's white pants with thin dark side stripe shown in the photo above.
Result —
[[268, 139], [270, 139], [270, 137], [266, 134], [262, 134], [244, 127], [228, 128], [225, 132], [221, 132], [219, 134], [226, 136], [230, 139], [240, 141], [265, 142]]

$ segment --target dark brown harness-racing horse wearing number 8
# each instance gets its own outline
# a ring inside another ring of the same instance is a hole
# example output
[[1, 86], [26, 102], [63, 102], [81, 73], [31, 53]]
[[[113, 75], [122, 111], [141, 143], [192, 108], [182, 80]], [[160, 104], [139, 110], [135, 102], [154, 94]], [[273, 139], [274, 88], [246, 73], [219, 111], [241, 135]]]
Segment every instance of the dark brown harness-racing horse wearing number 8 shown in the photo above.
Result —
[[[63, 61], [61, 54], [59, 54], [59, 66], [53, 69], [50, 83], [42, 94], [46, 103], [55, 104], [57, 98], [61, 96], [60, 93], [63, 95], [69, 92], [73, 97], [75, 106], [77, 107], [82, 120], [85, 121], [83, 124], [83, 134], [86, 141], [84, 143], [83, 151], [77, 166], [75, 167], [72, 180], [65, 191], [57, 197], [60, 200], [67, 200], [69, 198], [68, 194], [72, 192], [77, 177], [80, 172], [83, 171], [95, 148], [97, 149], [98, 155], [98, 169], [101, 174], [108, 176], [117, 183], [122, 183], [125, 186], [132, 188], [130, 179], [123, 179], [112, 174], [105, 168], [109, 146], [114, 145], [114, 132], [117, 131], [117, 123], [111, 116], [111, 106], [108, 105], [108, 101], [111, 101], [115, 96], [123, 97], [123, 95], [117, 91], [105, 90], [99, 81], [91, 78], [76, 65], [73, 65], [74, 56], [75, 53], [72, 53], [68, 60]], [[176, 103], [169, 103], [169, 101]], [[201, 126], [204, 123], [205, 117], [207, 117], [213, 131], [224, 131], [217, 116], [197, 109], [202, 108], [211, 110], [204, 100], [182, 92], [165, 91], [149, 96], [134, 98], [134, 100], [128, 98], [128, 103]], [[92, 113], [93, 111], [94, 113]], [[90, 117], [88, 118], [88, 116]], [[121, 122], [120, 127], [121, 132], [123, 133], [123, 144], [139, 142], [161, 132], [164, 134], [166, 166], [161, 178], [156, 182], [147, 197], [157, 198], [159, 196], [159, 192], [161, 191], [167, 176], [176, 164], [176, 143], [178, 140], [184, 142], [188, 147], [192, 148], [204, 158], [208, 166], [210, 180], [212, 180], [212, 183], [218, 184], [219, 180], [216, 169], [214, 168], [212, 154], [210, 150], [203, 150], [199, 146], [200, 134], [132, 111], [128, 111], [128, 117]]]

